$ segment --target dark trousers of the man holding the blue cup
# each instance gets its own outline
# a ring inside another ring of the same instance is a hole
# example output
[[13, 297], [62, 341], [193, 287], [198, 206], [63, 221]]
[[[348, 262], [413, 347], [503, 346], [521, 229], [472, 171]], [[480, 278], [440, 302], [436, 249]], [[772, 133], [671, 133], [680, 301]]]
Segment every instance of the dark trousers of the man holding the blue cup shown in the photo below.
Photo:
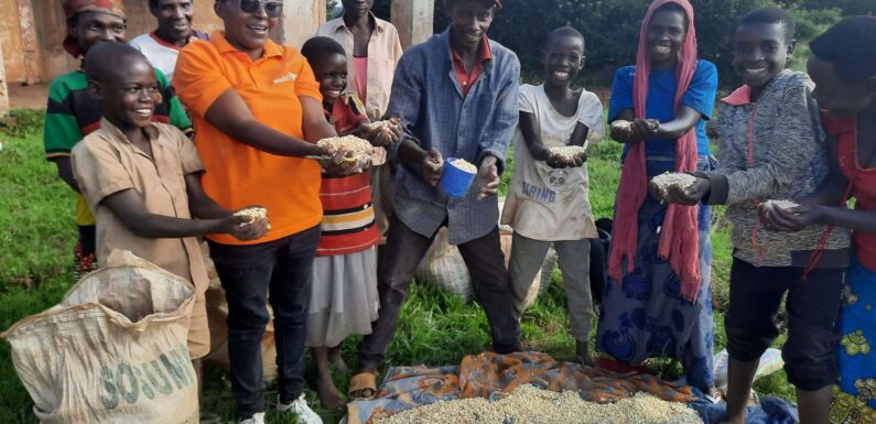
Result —
[[[383, 363], [387, 347], [399, 324], [401, 306], [408, 298], [413, 273], [434, 237], [414, 232], [398, 217], [392, 217], [387, 244], [377, 264], [380, 312], [377, 320], [371, 323], [371, 334], [365, 336], [359, 345], [361, 369], [377, 370]], [[519, 351], [520, 326], [515, 317], [513, 294], [499, 244], [499, 228], [458, 248], [472, 275], [475, 301], [487, 314], [493, 349], [498, 354]]]

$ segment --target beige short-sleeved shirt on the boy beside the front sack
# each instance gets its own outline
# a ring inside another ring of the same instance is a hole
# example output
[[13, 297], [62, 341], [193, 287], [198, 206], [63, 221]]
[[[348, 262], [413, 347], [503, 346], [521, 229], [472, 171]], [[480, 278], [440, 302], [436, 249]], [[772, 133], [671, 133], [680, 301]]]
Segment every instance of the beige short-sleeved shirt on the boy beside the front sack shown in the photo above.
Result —
[[152, 123], [145, 132], [153, 157], [131, 144], [106, 119], [100, 129], [73, 148], [73, 174], [97, 218], [97, 260], [104, 265], [112, 249], [130, 250], [193, 282], [195, 290], [203, 293], [209, 280], [196, 238], [140, 237], [101, 204], [111, 194], [133, 189], [152, 214], [192, 218], [185, 175], [204, 171], [197, 149], [172, 126]]

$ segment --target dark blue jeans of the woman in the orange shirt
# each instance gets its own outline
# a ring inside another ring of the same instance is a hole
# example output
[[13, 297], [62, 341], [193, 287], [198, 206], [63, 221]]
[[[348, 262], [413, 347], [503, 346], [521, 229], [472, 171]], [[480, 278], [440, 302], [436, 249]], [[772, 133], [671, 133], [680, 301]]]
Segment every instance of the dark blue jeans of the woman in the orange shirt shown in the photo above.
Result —
[[228, 300], [228, 359], [238, 414], [264, 412], [261, 339], [274, 315], [280, 400], [304, 391], [304, 340], [313, 259], [320, 227], [260, 244], [209, 243], [210, 257]]

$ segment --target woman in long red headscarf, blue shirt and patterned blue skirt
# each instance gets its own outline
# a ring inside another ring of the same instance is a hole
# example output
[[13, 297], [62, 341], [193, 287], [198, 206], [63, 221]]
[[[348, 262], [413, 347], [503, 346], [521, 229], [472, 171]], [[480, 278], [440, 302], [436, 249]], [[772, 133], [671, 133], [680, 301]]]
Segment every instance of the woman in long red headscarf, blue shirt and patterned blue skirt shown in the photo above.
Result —
[[717, 70], [696, 58], [693, 8], [657, 0], [641, 25], [636, 66], [618, 69], [608, 110], [612, 137], [625, 143], [610, 281], [599, 314], [599, 365], [638, 369], [650, 357], [682, 361], [688, 382], [711, 391], [710, 208], [667, 206], [648, 180], [668, 171], [710, 170], [705, 121]]

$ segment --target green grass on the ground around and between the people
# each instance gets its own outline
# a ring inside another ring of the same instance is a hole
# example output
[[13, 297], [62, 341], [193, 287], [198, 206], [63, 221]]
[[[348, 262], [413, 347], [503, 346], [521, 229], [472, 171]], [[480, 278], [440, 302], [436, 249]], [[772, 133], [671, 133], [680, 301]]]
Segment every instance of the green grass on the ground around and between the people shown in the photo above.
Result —
[[[43, 159], [39, 113], [17, 111], [17, 120], [0, 132], [0, 330], [14, 322], [41, 312], [63, 296], [72, 285], [69, 263], [76, 238], [73, 220], [74, 197], [56, 176], [54, 166]], [[610, 217], [619, 178], [620, 146], [612, 141], [595, 144], [590, 151], [591, 200], [597, 217]], [[512, 161], [504, 175], [510, 178]], [[716, 324], [716, 350], [725, 345], [723, 312], [727, 307], [727, 278], [731, 263], [728, 226], [717, 210], [714, 218], [713, 285]], [[526, 346], [559, 359], [572, 359], [574, 340], [569, 335], [565, 294], [558, 271], [548, 293], [527, 311], [522, 320]], [[344, 345], [344, 357], [355, 367], [358, 338]], [[429, 366], [457, 363], [464, 355], [478, 354], [488, 347], [486, 317], [474, 303], [464, 303], [429, 286], [414, 284], [402, 309], [399, 331], [389, 348], [387, 366]], [[655, 361], [666, 378], [679, 374], [672, 361]], [[309, 368], [307, 379], [313, 381]], [[342, 391], [349, 374], [336, 374]], [[205, 382], [203, 407], [227, 420], [234, 417], [234, 402], [227, 376], [209, 370]], [[793, 399], [793, 390], [779, 372], [758, 382], [761, 394]], [[312, 405], [318, 405], [307, 392]], [[269, 402], [275, 390], [269, 389]], [[32, 403], [21, 385], [10, 360], [9, 345], [0, 343], [0, 423], [35, 423]], [[335, 423], [342, 412], [317, 412], [326, 423]], [[272, 423], [281, 420], [269, 416]]]

